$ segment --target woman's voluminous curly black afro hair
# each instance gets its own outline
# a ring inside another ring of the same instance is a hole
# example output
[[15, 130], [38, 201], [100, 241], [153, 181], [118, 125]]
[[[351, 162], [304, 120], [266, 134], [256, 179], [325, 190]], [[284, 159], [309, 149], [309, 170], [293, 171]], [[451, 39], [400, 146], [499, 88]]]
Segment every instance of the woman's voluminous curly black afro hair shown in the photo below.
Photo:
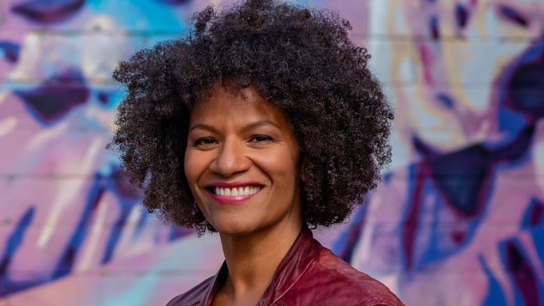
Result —
[[393, 108], [349, 39], [347, 20], [274, 0], [247, 0], [192, 17], [176, 40], [142, 49], [113, 73], [127, 93], [116, 113], [116, 148], [151, 213], [199, 233], [213, 230], [183, 170], [192, 105], [214, 84], [253, 86], [287, 117], [305, 162], [303, 218], [339, 223], [376, 187], [391, 162]]

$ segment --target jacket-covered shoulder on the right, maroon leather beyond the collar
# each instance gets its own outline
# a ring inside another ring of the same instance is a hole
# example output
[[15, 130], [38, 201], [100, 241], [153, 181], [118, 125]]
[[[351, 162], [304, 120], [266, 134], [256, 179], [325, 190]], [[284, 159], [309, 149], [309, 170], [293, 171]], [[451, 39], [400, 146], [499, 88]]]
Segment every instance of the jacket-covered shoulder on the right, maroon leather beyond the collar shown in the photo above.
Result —
[[384, 284], [325, 247], [283, 300], [286, 305], [403, 305]]

